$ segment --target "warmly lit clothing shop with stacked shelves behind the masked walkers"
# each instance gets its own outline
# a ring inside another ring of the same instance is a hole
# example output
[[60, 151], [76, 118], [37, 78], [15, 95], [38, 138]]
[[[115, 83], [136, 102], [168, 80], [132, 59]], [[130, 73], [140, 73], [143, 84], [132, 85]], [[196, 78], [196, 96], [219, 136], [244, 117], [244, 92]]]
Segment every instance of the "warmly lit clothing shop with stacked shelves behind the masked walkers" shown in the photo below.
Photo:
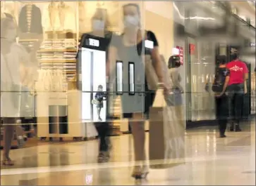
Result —
[[[78, 65], [78, 44], [83, 34], [94, 31], [95, 17], [106, 18], [105, 31], [120, 35], [123, 5], [128, 3], [134, 2], [1, 1], [1, 18], [8, 16], [16, 20], [17, 42], [24, 46], [37, 71], [35, 90], [23, 90], [25, 104], [21, 105], [25, 108], [21, 117], [23, 124], [36, 124], [39, 138], [63, 140], [96, 135], [92, 125], [85, 125], [82, 120], [92, 120], [90, 123], [97, 120], [97, 110], [91, 101], [99, 84], [106, 91], [106, 47], [99, 39], [87, 38], [81, 45], [82, 65]], [[142, 29], [154, 32], [159, 53], [167, 61], [173, 48], [171, 2], [136, 1], [135, 4], [140, 8]], [[100, 64], [100, 77], [97, 77], [96, 61]], [[77, 81], [83, 81], [82, 91], [78, 91]], [[117, 118], [113, 121], [114, 131], [118, 134], [121, 128], [124, 128], [122, 132], [128, 131], [128, 122], [121, 122], [120, 101], [117, 98], [113, 102], [111, 110]], [[106, 105], [104, 102], [102, 121], [106, 121]], [[121, 126], [121, 123], [126, 124]], [[30, 125], [24, 127], [30, 130]]]

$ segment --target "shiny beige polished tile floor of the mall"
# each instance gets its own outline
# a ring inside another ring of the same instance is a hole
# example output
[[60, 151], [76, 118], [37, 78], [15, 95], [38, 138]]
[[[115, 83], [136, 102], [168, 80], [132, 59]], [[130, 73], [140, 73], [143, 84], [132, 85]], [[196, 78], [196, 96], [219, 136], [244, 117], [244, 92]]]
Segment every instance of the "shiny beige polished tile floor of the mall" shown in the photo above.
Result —
[[105, 164], [97, 164], [97, 140], [13, 150], [16, 165], [1, 166], [1, 185], [255, 185], [255, 121], [226, 135], [218, 138], [213, 126], [187, 131], [185, 164], [150, 169], [147, 180], [137, 182], [130, 178], [131, 135], [111, 137]]

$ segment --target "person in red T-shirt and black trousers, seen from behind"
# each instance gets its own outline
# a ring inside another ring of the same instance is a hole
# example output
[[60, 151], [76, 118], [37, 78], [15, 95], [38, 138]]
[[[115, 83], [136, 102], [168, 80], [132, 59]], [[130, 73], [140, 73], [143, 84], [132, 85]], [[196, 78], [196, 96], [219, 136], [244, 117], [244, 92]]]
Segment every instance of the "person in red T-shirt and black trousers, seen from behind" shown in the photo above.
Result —
[[234, 60], [226, 65], [230, 73], [228, 82], [230, 131], [241, 131], [239, 123], [242, 118], [243, 95], [247, 93], [248, 67], [245, 62], [239, 60], [238, 53], [234, 53], [232, 57]]

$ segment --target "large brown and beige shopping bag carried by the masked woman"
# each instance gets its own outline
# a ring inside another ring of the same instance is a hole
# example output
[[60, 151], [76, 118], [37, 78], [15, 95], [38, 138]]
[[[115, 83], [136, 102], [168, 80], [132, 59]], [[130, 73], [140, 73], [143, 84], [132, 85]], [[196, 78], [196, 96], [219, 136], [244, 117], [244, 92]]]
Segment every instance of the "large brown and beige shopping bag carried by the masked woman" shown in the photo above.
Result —
[[185, 125], [178, 109], [164, 101], [163, 91], [157, 91], [150, 108], [150, 168], [170, 168], [183, 164], [185, 157]]

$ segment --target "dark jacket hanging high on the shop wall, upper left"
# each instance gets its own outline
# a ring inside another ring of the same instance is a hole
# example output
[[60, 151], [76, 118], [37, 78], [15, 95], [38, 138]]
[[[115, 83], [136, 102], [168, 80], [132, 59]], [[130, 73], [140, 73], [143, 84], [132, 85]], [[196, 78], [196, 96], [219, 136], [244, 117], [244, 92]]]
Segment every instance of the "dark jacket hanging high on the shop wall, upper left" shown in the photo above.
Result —
[[40, 8], [26, 5], [21, 8], [18, 27], [22, 33], [42, 34], [42, 15]]

